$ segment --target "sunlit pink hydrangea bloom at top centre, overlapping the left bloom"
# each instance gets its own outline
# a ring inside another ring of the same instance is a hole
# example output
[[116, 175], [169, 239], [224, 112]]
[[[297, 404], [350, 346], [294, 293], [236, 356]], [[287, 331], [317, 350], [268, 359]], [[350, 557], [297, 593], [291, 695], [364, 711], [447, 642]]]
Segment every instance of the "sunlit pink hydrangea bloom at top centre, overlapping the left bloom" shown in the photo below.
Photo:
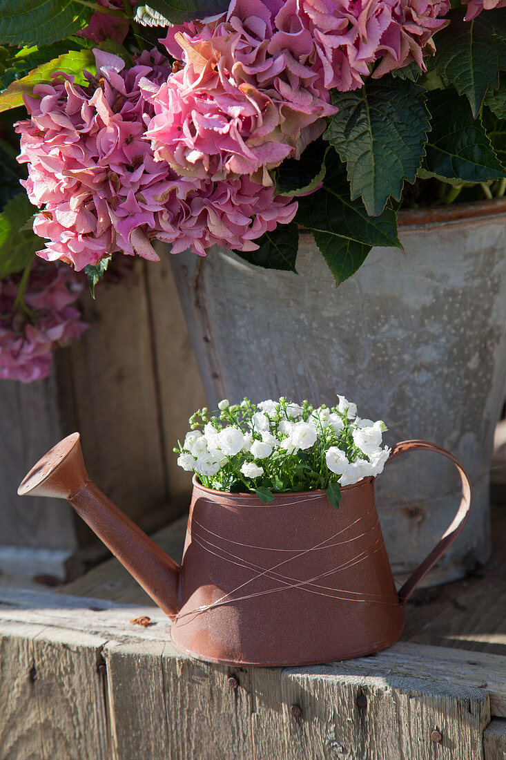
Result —
[[289, 22], [281, 33], [261, 0], [232, 0], [227, 14], [172, 27], [164, 42], [184, 65], [160, 87], [142, 82], [156, 114], [147, 137], [180, 174], [269, 185], [267, 169], [299, 154], [335, 113], [310, 34]]

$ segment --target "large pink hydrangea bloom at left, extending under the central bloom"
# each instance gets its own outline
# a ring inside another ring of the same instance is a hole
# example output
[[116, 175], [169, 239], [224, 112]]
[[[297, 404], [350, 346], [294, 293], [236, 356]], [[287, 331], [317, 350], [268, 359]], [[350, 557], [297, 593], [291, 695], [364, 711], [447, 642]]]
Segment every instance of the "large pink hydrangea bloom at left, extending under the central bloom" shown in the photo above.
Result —
[[98, 80], [87, 88], [70, 76], [37, 85], [26, 101], [30, 120], [17, 124], [18, 160], [29, 165], [23, 184], [43, 207], [33, 228], [49, 239], [42, 258], [77, 271], [119, 251], [157, 261], [154, 237], [174, 253], [205, 255], [215, 243], [251, 251], [258, 248], [252, 240], [293, 219], [296, 203], [248, 176], [186, 179], [155, 160], [144, 139], [153, 106], [139, 81], [166, 80], [160, 53], [142, 52], [127, 70], [116, 55], [95, 55]]

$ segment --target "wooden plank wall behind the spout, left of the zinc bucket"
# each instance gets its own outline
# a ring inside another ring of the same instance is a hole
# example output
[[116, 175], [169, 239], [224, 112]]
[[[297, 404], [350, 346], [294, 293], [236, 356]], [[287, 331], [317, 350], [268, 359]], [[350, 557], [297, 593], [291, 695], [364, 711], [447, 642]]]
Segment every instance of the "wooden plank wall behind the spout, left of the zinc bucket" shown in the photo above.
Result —
[[0, 382], [0, 572], [23, 565], [27, 547], [50, 568], [51, 553], [70, 556], [92, 540], [65, 502], [16, 495], [27, 470], [74, 430], [92, 480], [145, 527], [187, 506], [191, 480], [172, 448], [205, 401], [169, 255], [137, 261], [131, 279], [97, 287], [94, 302], [83, 297], [90, 329], [56, 352], [50, 378]]

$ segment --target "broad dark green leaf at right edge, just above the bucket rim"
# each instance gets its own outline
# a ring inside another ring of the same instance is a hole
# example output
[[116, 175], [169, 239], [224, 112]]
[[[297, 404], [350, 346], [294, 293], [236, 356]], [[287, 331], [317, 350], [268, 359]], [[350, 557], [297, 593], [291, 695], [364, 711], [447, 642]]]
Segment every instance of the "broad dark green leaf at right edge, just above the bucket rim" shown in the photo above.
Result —
[[459, 182], [487, 182], [506, 176], [481, 119], [453, 88], [428, 93], [432, 131], [425, 146], [425, 176]]

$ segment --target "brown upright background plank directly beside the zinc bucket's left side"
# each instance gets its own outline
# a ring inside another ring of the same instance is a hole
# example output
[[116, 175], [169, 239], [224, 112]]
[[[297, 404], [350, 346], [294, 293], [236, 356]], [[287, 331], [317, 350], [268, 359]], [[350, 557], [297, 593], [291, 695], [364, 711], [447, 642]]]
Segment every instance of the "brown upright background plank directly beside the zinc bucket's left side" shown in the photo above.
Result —
[[189, 416], [207, 401], [166, 246], [161, 245], [158, 252], [160, 264], [146, 267], [158, 403], [170, 495], [186, 496], [191, 492], [191, 478], [178, 467], [172, 448], [184, 438]]

